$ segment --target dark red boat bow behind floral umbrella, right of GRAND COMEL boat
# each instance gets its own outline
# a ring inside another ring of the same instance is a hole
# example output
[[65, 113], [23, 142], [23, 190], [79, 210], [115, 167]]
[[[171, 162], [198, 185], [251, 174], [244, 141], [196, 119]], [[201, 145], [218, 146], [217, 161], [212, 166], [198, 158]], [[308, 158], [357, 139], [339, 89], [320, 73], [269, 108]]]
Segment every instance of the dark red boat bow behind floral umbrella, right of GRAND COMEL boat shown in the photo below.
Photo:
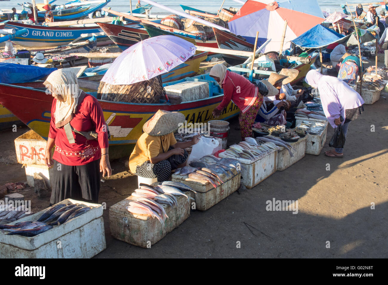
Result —
[[131, 28], [128, 26], [119, 26], [109, 23], [97, 23], [107, 36], [121, 50], [126, 50], [128, 47], [138, 43], [139, 41], [149, 38], [147, 31], [144, 29]]

